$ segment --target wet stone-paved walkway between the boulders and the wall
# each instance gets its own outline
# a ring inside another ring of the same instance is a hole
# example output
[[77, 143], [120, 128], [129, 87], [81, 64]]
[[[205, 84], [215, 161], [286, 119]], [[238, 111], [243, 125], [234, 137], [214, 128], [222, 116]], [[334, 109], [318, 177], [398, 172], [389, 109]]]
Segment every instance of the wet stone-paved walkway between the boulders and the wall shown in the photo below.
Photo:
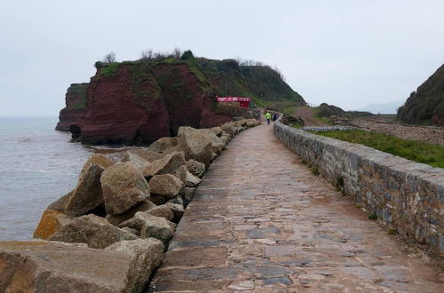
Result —
[[243, 131], [205, 175], [150, 290], [444, 292], [444, 274], [408, 256], [274, 137]]

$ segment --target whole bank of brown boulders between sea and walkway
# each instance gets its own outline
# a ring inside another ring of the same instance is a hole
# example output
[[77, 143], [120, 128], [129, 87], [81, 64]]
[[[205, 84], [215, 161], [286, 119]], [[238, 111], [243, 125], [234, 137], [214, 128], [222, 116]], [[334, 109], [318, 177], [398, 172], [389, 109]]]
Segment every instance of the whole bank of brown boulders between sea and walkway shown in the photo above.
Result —
[[40, 241], [0, 242], [0, 291], [145, 289], [210, 162], [258, 124], [180, 127], [148, 148], [92, 155], [75, 189], [44, 211]]

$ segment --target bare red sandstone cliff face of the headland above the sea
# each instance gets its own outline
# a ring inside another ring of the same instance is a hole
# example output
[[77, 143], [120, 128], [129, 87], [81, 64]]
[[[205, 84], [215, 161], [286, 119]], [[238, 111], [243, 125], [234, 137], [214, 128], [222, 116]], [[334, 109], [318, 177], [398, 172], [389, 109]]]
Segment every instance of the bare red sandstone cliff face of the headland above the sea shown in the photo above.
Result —
[[181, 125], [199, 128], [230, 121], [231, 116], [211, 109], [207, 87], [185, 62], [102, 65], [91, 83], [82, 83], [84, 107], [78, 84], [68, 89], [57, 129], [70, 130], [88, 144], [128, 145], [174, 136]]

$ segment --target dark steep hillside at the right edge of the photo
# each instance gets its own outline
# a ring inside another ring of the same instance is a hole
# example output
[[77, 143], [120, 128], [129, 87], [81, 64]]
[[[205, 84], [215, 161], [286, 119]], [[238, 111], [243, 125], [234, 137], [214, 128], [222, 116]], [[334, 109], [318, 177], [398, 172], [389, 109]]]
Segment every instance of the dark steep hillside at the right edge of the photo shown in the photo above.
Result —
[[405, 123], [433, 123], [444, 127], [444, 65], [410, 94], [398, 109]]

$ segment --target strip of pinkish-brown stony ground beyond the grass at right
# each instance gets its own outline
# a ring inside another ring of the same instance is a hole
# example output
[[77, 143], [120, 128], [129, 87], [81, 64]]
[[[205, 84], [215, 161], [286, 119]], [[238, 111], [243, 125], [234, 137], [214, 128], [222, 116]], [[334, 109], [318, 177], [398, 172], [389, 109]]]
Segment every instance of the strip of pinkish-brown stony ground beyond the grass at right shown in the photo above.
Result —
[[371, 131], [397, 136], [401, 139], [422, 140], [444, 146], [444, 128], [408, 126], [369, 118], [358, 118], [353, 120], [351, 124]]

